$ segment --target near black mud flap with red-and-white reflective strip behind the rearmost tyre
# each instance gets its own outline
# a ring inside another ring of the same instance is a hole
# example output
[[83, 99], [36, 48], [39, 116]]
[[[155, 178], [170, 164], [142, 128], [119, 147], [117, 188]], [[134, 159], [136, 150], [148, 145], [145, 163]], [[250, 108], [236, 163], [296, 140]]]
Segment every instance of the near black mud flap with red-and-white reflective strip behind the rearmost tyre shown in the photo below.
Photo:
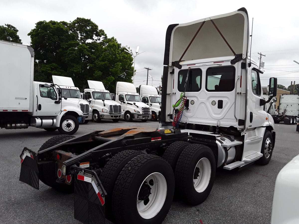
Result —
[[72, 166], [74, 171], [74, 216], [86, 224], [105, 223], [106, 191], [94, 171]]

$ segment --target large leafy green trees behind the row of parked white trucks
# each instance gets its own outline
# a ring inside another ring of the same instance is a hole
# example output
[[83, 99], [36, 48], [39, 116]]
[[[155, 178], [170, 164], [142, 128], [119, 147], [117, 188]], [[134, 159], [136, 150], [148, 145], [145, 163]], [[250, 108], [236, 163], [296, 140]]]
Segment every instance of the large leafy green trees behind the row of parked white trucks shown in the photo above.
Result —
[[115, 82], [132, 82], [132, 56], [90, 19], [39, 21], [28, 36], [35, 52], [35, 81], [67, 76], [81, 90], [87, 80], [101, 81], [112, 93]]

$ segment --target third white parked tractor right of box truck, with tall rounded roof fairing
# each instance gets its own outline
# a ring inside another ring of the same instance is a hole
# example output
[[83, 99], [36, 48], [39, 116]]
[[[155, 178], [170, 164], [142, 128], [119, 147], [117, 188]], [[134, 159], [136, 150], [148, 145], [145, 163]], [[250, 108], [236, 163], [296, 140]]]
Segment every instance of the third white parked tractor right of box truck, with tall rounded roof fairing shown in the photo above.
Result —
[[121, 104], [124, 111], [124, 119], [131, 122], [133, 119], [146, 122], [151, 119], [149, 105], [141, 102], [135, 85], [129, 82], [116, 82], [115, 101]]

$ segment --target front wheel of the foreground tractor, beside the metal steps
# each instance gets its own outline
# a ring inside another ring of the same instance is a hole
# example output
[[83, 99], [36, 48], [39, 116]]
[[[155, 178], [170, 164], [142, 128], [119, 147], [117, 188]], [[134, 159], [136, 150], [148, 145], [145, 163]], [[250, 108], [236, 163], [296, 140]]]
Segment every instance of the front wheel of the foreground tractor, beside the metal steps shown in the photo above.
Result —
[[266, 165], [270, 162], [274, 147], [273, 137], [270, 131], [266, 130], [263, 138], [261, 153], [263, 156], [257, 160], [258, 164]]

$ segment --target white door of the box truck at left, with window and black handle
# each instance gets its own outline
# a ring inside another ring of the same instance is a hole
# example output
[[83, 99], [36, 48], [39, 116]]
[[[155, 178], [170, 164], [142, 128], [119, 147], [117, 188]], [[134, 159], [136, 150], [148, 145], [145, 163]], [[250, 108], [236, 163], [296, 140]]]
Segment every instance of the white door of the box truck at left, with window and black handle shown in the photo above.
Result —
[[56, 116], [61, 111], [61, 103], [58, 100], [57, 92], [53, 86], [38, 84], [37, 101], [34, 106], [37, 116]]

